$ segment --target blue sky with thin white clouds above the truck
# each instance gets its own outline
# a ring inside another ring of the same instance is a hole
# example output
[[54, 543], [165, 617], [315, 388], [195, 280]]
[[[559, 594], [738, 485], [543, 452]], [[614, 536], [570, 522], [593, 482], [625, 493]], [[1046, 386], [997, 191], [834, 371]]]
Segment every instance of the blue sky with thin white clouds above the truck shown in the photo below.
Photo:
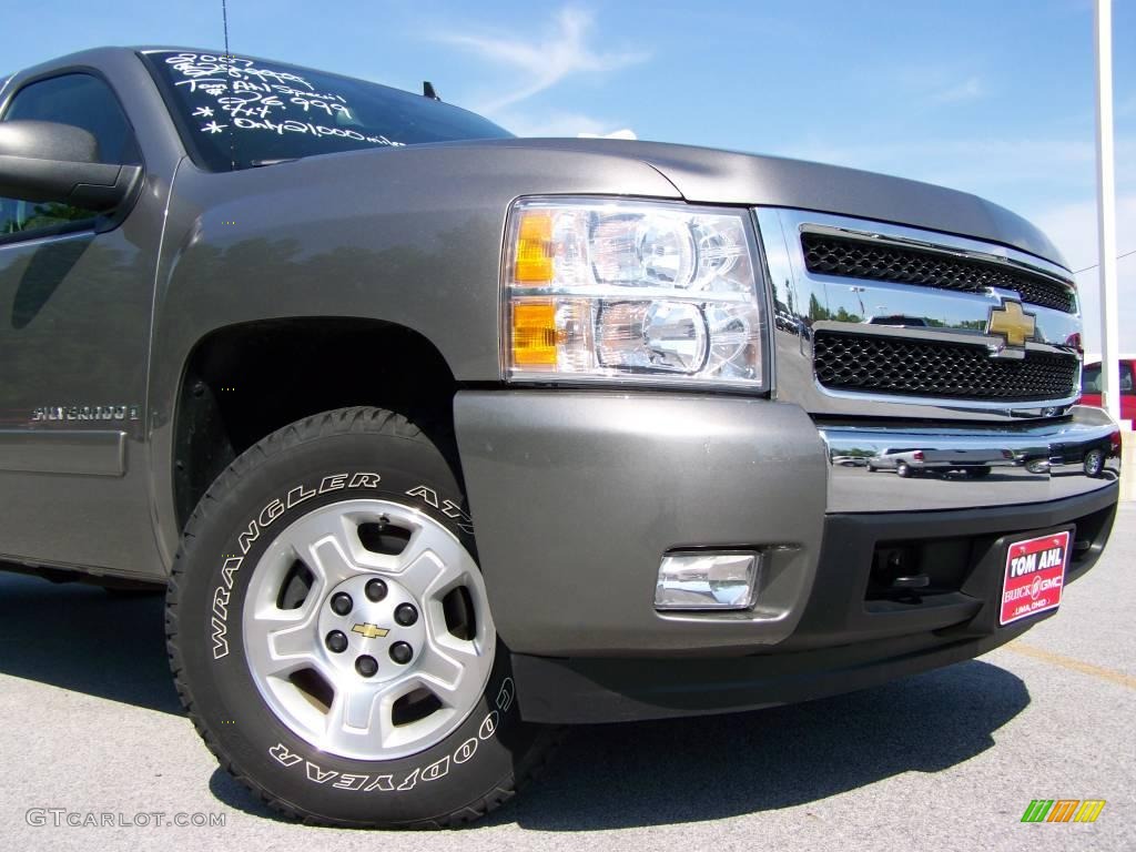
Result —
[[[5, 11], [14, 70], [95, 44], [222, 44], [220, 0]], [[975, 192], [1096, 262], [1092, 0], [228, 0], [229, 47], [449, 101], [523, 135], [776, 153]], [[1136, 250], [1136, 2], [1116, 0], [1118, 242]], [[1136, 254], [1119, 261], [1136, 350]], [[1096, 270], [1078, 276], [1096, 348]]]

